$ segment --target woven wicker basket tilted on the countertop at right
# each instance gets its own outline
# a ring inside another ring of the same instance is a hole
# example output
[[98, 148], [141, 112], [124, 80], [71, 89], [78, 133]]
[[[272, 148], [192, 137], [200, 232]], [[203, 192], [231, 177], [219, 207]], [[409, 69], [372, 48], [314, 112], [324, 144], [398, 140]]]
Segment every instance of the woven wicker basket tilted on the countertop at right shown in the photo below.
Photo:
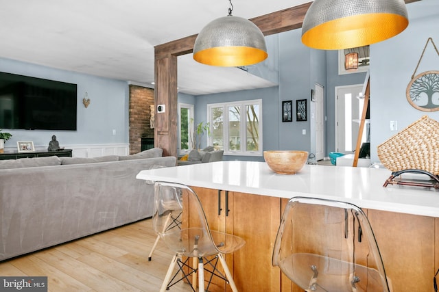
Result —
[[439, 175], [439, 122], [423, 116], [380, 144], [377, 154], [392, 172], [414, 169]]

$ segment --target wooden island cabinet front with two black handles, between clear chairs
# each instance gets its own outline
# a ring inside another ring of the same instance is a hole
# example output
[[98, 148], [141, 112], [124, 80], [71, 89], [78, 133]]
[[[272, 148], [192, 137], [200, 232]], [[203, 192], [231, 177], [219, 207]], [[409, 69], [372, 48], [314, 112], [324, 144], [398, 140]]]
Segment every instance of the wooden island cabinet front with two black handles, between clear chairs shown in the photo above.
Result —
[[[192, 188], [200, 198], [210, 228], [237, 235], [246, 241], [244, 248], [226, 255], [238, 290], [279, 291], [281, 273], [271, 263], [273, 238], [276, 238], [280, 222], [280, 199]], [[224, 291], [224, 287], [222, 289]]]

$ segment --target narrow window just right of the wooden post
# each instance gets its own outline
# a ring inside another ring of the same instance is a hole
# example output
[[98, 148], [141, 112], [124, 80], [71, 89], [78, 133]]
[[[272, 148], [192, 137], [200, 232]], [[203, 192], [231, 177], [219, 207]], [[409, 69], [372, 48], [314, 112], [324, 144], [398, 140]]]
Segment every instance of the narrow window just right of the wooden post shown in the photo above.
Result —
[[189, 133], [193, 133], [193, 105], [178, 104], [178, 154], [185, 155], [192, 149]]

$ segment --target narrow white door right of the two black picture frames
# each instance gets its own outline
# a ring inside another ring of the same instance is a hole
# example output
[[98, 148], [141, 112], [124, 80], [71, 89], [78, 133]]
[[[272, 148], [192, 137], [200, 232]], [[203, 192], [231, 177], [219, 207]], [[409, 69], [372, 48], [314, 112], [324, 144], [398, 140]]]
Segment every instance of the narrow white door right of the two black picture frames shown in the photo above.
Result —
[[323, 111], [323, 86], [316, 83], [314, 90], [316, 101], [316, 160], [324, 159], [324, 111]]

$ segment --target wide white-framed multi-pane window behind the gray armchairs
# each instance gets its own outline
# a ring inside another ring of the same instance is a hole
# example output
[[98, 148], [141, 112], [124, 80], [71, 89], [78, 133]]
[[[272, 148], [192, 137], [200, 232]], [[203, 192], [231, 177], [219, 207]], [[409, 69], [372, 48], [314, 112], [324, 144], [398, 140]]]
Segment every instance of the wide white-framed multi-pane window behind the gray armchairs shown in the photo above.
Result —
[[210, 143], [226, 155], [262, 155], [262, 100], [207, 105]]

